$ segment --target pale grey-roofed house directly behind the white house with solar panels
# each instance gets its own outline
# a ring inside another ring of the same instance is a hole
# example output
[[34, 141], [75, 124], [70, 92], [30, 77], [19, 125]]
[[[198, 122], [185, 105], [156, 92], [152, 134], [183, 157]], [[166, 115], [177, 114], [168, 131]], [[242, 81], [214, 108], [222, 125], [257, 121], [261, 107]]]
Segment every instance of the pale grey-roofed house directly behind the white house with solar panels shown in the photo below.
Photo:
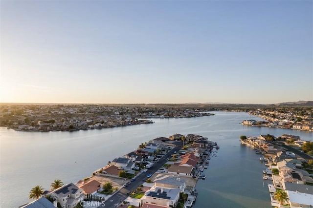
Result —
[[186, 187], [185, 180], [177, 176], [158, 174], [154, 182], [156, 187], [179, 188], [180, 192], [184, 192]]

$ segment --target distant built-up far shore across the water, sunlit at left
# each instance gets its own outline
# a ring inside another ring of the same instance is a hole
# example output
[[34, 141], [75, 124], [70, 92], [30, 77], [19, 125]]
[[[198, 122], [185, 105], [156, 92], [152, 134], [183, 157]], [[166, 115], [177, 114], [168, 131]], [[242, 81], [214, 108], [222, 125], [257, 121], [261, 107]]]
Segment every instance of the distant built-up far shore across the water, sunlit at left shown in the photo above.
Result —
[[0, 126], [20, 131], [75, 131], [152, 124], [151, 118], [211, 116], [206, 109], [154, 105], [2, 104]]

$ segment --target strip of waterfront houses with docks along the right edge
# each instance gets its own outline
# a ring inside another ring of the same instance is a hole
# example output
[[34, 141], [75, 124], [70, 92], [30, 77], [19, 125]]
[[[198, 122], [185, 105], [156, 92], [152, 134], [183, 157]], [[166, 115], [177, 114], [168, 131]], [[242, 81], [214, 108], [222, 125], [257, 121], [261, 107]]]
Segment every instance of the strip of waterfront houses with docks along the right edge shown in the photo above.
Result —
[[263, 154], [263, 179], [268, 180], [271, 205], [311, 208], [313, 205], [313, 143], [298, 136], [241, 136], [241, 143]]

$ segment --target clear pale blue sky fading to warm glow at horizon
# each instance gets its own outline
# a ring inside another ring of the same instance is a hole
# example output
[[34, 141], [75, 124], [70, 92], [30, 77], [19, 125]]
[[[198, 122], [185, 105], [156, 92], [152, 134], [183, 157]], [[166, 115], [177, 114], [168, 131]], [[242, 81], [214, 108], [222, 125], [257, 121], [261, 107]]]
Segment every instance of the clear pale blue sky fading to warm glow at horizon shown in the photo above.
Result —
[[2, 103], [299, 100], [312, 0], [0, 1]]

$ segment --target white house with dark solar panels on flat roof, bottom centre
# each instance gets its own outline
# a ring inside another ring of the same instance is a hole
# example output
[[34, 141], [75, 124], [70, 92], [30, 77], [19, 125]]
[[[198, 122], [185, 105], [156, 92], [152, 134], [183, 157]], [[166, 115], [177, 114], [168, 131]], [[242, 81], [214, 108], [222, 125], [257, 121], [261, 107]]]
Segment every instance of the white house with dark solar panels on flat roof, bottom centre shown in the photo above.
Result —
[[176, 207], [179, 201], [179, 188], [151, 187], [141, 198], [141, 204], [151, 203], [161, 206]]

